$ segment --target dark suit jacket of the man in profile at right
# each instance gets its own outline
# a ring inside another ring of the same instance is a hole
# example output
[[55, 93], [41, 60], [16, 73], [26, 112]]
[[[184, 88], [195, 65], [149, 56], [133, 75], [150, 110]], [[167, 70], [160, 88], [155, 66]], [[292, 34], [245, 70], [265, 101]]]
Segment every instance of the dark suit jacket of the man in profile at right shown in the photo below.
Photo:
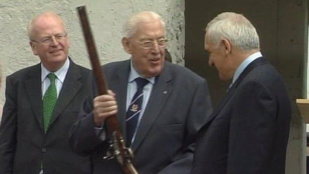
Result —
[[257, 58], [199, 132], [191, 174], [284, 174], [290, 117], [281, 77]]

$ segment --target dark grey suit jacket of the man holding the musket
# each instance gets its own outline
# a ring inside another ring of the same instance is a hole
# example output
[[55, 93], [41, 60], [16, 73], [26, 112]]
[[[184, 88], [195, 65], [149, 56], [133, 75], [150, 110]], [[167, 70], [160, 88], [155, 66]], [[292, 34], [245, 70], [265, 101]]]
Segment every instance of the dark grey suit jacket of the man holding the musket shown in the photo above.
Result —
[[[117, 119], [125, 135], [126, 93], [130, 60], [103, 66], [109, 88], [116, 94]], [[81, 119], [73, 126], [72, 149], [91, 154], [94, 174], [122, 174], [115, 160], [105, 161], [106, 141], [94, 132], [92, 98], [82, 107]], [[188, 174], [193, 160], [197, 131], [211, 112], [206, 80], [189, 69], [165, 62], [137, 130], [132, 150], [141, 174]]]

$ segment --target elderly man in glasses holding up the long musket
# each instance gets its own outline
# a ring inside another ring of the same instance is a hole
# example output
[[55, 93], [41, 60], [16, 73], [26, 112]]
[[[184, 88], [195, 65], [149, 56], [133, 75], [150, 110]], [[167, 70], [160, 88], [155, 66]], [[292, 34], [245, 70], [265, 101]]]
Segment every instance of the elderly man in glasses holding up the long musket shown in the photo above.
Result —
[[94, 174], [122, 174], [115, 160], [103, 159], [105, 130], [94, 129], [116, 113], [141, 174], [190, 172], [196, 134], [211, 112], [208, 88], [205, 79], [164, 60], [166, 42], [164, 22], [154, 12], [125, 23], [122, 45], [131, 59], [102, 67], [113, 92], [84, 103], [70, 137], [76, 153], [92, 155]]

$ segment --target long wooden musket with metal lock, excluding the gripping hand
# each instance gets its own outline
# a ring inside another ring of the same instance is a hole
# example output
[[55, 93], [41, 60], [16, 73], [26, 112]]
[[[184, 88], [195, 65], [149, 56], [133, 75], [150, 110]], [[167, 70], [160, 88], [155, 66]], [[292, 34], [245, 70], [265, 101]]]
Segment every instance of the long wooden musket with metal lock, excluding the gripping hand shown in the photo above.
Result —
[[[88, 54], [93, 67], [93, 72], [96, 78], [99, 95], [107, 94], [106, 81], [100, 67], [100, 61], [96, 50], [95, 42], [92, 36], [91, 28], [88, 21], [85, 6], [77, 7], [80, 22], [82, 24]], [[122, 165], [122, 170], [125, 174], [139, 174], [133, 166], [133, 152], [125, 146], [123, 134], [120, 131], [116, 115], [109, 116], [105, 119], [107, 132], [110, 137], [109, 149], [107, 150], [105, 160], [116, 158]]]

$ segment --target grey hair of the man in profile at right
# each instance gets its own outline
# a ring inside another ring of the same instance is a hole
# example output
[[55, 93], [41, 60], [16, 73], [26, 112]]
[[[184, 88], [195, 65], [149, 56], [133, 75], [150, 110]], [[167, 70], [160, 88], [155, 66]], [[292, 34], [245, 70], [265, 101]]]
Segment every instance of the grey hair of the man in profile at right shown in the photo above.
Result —
[[243, 51], [259, 50], [257, 30], [242, 14], [223, 12], [207, 24], [206, 40], [218, 45], [222, 39]]

